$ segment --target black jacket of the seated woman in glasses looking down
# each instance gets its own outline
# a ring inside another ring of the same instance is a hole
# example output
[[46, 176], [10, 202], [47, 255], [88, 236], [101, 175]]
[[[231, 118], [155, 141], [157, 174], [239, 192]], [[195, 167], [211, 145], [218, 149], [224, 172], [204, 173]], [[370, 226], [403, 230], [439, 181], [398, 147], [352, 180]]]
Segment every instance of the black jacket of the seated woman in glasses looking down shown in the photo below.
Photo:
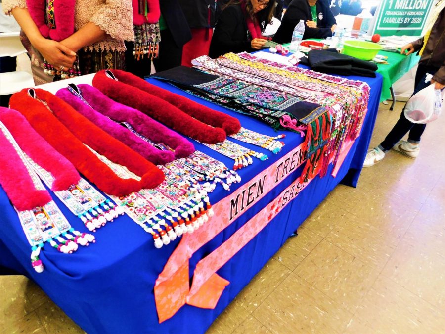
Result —
[[240, 5], [230, 5], [218, 17], [210, 43], [209, 56], [218, 58], [227, 52], [252, 52], [252, 38]]

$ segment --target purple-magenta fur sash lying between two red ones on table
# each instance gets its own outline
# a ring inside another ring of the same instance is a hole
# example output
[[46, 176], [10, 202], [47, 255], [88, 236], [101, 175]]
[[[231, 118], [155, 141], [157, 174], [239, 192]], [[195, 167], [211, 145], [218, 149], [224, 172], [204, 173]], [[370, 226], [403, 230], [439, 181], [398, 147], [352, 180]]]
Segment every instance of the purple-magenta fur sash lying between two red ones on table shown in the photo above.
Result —
[[[72, 87], [76, 91], [76, 86]], [[59, 90], [56, 96], [69, 103], [91, 122], [117, 140], [130, 146], [154, 164], [165, 164], [194, 152], [195, 148], [192, 143], [140, 111], [113, 101], [90, 85], [82, 84], [77, 88], [79, 92], [75, 93], [80, 93], [79, 95], [85, 101], [76, 96], [77, 94], [71, 93], [68, 88]], [[165, 143], [175, 149], [175, 152], [158, 150], [116, 122], [128, 122], [139, 134], [153, 142]]]

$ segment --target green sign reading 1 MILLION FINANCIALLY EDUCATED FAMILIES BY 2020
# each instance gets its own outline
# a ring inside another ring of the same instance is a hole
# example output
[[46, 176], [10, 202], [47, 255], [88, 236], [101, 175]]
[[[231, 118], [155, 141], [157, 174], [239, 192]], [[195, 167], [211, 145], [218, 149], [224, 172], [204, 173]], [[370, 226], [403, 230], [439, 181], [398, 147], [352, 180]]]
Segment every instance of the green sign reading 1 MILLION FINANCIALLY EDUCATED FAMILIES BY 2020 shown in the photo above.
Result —
[[374, 34], [420, 36], [433, 0], [383, 0]]

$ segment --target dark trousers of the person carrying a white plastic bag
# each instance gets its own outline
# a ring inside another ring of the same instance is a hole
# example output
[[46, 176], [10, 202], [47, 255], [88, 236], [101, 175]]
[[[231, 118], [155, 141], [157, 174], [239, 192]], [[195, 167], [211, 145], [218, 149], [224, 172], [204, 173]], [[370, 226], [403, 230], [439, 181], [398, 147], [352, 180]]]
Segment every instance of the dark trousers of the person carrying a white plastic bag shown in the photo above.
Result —
[[[414, 94], [418, 91], [427, 87], [430, 83], [425, 83], [426, 74], [435, 74], [439, 68], [433, 66], [426, 66], [419, 64], [416, 72], [416, 78], [414, 80]], [[411, 96], [412, 96], [411, 95]], [[404, 109], [400, 114], [400, 118], [397, 121], [396, 125], [394, 125], [393, 129], [386, 136], [385, 140], [380, 143], [380, 148], [386, 152], [389, 151], [397, 142], [399, 142], [404, 135], [409, 131], [408, 141], [411, 143], [419, 143], [420, 137], [425, 130], [426, 124], [415, 124], [408, 121], [403, 113]]]

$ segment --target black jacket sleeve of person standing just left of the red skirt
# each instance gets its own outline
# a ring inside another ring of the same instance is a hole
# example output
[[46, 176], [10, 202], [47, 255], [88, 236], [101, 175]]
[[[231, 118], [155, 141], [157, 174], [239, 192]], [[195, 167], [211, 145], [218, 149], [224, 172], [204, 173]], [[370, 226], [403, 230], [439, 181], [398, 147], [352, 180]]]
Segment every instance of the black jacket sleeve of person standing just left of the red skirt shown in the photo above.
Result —
[[165, 22], [175, 40], [175, 44], [181, 48], [191, 40], [192, 36], [178, 0], [160, 0], [159, 6], [162, 16], [164, 16]]

